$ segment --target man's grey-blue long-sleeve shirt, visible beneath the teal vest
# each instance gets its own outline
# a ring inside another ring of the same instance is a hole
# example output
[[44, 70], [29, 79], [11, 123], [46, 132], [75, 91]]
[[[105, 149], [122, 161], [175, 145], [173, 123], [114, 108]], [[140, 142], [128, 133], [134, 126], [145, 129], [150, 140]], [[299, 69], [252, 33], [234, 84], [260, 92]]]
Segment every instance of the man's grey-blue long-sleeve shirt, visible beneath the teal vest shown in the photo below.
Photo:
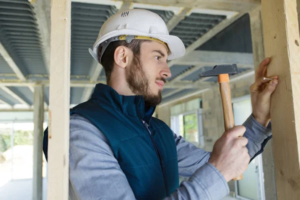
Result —
[[[252, 115], [243, 124], [252, 158], [259, 153], [271, 131]], [[223, 175], [208, 162], [207, 152], [174, 133], [180, 176], [189, 177], [165, 199], [220, 199], [229, 193]], [[89, 120], [70, 116], [69, 199], [135, 199], [106, 137]]]

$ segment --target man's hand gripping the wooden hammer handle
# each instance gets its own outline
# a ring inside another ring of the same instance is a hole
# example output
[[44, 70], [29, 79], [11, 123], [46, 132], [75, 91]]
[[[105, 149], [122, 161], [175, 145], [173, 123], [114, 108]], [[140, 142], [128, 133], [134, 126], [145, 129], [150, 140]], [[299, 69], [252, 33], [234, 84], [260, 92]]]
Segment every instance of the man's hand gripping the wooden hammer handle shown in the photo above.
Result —
[[216, 140], [209, 162], [217, 168], [226, 181], [241, 175], [247, 168], [250, 156], [245, 147], [248, 139], [242, 137], [246, 128], [234, 126]]

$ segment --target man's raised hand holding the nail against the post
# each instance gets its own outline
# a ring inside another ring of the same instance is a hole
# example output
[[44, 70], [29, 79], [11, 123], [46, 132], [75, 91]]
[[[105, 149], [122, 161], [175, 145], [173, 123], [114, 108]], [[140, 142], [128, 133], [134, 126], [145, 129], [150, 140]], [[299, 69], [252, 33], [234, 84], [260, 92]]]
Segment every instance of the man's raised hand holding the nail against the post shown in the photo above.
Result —
[[273, 80], [263, 80], [269, 61], [270, 58], [267, 57], [260, 62], [255, 72], [255, 82], [250, 86], [253, 117], [265, 127], [270, 121], [270, 97], [278, 83], [278, 76], [267, 77]]

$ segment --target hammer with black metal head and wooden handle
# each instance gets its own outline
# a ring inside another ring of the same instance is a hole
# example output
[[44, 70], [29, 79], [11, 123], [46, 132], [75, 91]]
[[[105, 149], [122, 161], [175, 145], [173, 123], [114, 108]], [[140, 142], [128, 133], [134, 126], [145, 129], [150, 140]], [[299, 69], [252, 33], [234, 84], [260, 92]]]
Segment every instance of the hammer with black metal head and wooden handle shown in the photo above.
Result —
[[[237, 73], [236, 64], [221, 64], [215, 65], [213, 69], [204, 71], [198, 75], [199, 77], [217, 76], [222, 98], [225, 131], [229, 130], [235, 125], [229, 85], [229, 74], [235, 73]], [[242, 175], [234, 178], [233, 180], [240, 179], [242, 179]]]

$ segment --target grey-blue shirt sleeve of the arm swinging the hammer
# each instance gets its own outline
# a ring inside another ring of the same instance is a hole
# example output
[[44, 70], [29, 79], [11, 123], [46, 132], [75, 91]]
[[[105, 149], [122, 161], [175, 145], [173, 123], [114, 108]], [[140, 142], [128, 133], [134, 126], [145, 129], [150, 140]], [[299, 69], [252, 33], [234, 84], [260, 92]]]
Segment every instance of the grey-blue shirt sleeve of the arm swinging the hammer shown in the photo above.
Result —
[[[219, 199], [229, 193], [226, 180], [210, 163], [203, 163], [165, 199]], [[70, 116], [70, 199], [135, 199], [106, 137], [87, 119]]]

